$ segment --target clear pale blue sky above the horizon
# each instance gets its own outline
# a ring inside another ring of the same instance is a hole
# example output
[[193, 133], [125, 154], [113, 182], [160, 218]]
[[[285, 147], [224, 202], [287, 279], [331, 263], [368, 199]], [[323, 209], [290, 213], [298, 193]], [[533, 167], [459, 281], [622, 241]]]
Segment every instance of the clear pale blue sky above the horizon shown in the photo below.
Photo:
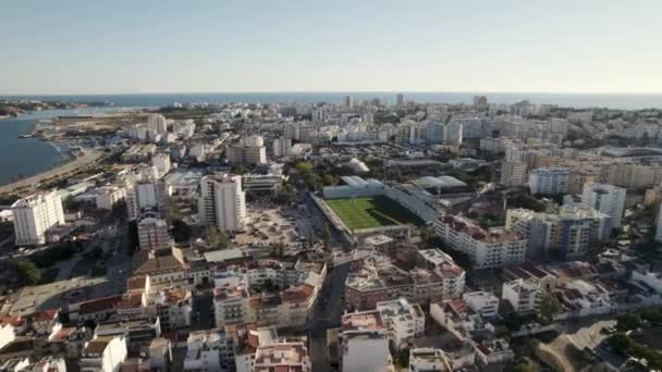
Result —
[[0, 94], [662, 91], [662, 1], [0, 0]]

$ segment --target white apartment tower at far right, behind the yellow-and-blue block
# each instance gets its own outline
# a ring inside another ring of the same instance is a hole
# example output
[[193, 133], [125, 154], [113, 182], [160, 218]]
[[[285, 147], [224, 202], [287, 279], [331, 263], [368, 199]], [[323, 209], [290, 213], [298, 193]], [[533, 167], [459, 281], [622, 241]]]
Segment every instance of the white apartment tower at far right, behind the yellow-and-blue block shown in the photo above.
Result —
[[612, 227], [620, 228], [625, 208], [625, 188], [608, 184], [584, 184], [581, 202], [612, 218]]

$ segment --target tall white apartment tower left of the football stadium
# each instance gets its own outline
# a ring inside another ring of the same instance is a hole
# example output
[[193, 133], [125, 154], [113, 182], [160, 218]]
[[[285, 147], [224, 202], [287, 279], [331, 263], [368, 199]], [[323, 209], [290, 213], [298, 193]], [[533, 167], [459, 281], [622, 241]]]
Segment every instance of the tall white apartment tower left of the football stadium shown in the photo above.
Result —
[[207, 175], [200, 179], [200, 224], [221, 231], [238, 231], [246, 219], [246, 196], [238, 175]]

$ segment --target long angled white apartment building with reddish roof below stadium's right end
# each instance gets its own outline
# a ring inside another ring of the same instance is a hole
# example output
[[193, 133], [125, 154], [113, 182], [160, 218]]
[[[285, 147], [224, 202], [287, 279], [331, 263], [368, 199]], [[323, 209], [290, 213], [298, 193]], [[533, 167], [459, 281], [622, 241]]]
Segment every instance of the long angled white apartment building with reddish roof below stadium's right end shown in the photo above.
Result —
[[451, 248], [468, 255], [474, 269], [497, 269], [524, 262], [527, 239], [510, 231], [486, 231], [475, 221], [440, 214], [437, 235]]

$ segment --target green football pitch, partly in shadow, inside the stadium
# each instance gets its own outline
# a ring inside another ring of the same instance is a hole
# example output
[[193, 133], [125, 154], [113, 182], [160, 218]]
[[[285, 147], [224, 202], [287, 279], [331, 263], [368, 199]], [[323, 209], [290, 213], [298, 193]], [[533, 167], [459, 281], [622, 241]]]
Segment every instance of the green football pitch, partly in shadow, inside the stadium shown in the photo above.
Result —
[[420, 224], [414, 213], [384, 196], [330, 199], [326, 202], [350, 230]]

